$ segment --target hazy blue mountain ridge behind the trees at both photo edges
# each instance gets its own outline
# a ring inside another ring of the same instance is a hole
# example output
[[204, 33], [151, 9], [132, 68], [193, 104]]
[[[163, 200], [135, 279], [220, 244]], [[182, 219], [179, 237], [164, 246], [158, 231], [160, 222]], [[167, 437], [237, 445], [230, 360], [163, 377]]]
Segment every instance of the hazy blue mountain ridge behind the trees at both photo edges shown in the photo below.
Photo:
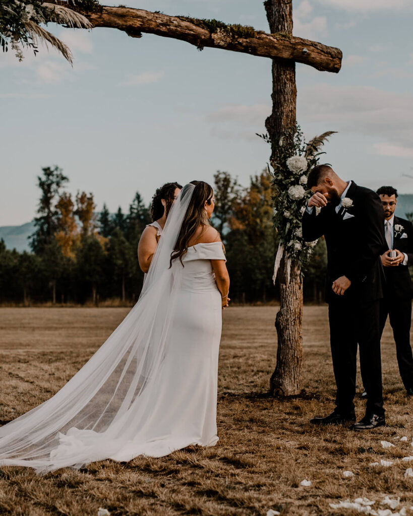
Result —
[[[406, 218], [406, 213], [413, 213], [413, 193], [402, 193], [398, 197], [396, 215]], [[19, 252], [30, 251], [28, 237], [35, 231], [35, 222], [26, 222], [20, 226], [0, 227], [0, 239], [3, 238], [8, 249]]]

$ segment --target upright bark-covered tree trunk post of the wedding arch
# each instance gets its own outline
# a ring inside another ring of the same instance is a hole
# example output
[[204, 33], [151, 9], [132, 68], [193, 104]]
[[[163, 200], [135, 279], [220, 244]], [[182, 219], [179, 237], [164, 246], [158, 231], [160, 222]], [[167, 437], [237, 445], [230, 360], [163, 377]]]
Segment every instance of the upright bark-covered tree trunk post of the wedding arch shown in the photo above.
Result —
[[[271, 33], [292, 35], [292, 0], [266, 0], [264, 2]], [[297, 88], [295, 84], [295, 63], [281, 59], [273, 60], [273, 112], [265, 125], [271, 139], [271, 162], [278, 162], [278, 149], [285, 131], [294, 133], [296, 124]], [[303, 379], [303, 281], [299, 263], [291, 264], [288, 281], [286, 262], [281, 262], [278, 271], [280, 285], [280, 309], [275, 320], [278, 348], [277, 364], [270, 379], [273, 396], [299, 394]]]

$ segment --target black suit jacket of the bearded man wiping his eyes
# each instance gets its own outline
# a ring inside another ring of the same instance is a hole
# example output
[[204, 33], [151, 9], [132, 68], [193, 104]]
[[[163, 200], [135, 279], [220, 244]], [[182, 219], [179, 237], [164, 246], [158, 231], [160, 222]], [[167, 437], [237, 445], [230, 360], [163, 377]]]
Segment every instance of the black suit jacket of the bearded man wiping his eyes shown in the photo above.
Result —
[[344, 294], [355, 302], [370, 302], [383, 297], [384, 272], [380, 255], [387, 249], [384, 235], [384, 210], [378, 195], [352, 182], [347, 198], [353, 205], [343, 214], [327, 204], [316, 215], [303, 215], [303, 237], [313, 241], [324, 235], [327, 244], [327, 303], [342, 297], [332, 291], [332, 283], [346, 276], [352, 284]]

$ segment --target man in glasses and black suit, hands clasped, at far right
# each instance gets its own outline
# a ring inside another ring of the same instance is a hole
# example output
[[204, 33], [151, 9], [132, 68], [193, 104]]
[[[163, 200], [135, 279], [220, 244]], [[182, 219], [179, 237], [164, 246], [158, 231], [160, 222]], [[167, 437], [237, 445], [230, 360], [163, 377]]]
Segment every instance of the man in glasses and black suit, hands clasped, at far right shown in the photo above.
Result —
[[[410, 346], [412, 287], [409, 265], [413, 265], [413, 224], [394, 215], [398, 193], [392, 186], [377, 190], [385, 215], [388, 250], [382, 254], [386, 276], [384, 298], [380, 301], [380, 337], [387, 316], [393, 329], [400, 376], [407, 396], [413, 396], [413, 354]], [[395, 257], [390, 257], [394, 250]]]

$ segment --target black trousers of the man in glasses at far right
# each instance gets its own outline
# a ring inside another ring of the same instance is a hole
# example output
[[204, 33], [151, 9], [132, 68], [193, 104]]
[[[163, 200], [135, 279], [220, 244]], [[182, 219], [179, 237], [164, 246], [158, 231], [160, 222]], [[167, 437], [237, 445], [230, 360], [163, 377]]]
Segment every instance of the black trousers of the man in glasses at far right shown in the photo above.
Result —
[[387, 316], [393, 329], [396, 356], [400, 376], [406, 388], [413, 388], [413, 353], [410, 346], [411, 299], [386, 296], [380, 299], [380, 337], [386, 325]]

